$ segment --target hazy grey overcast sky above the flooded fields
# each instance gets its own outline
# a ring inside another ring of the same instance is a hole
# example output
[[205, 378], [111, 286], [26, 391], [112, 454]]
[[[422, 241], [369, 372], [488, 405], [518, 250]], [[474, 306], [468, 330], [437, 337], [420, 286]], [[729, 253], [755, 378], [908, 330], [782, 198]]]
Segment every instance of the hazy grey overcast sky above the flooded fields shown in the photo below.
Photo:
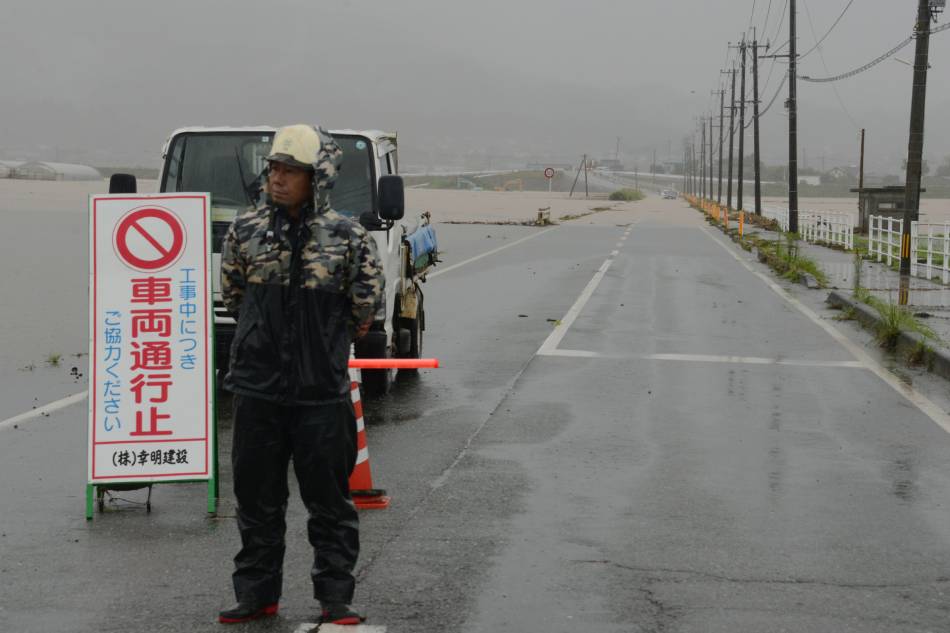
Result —
[[[848, 0], [799, 0], [805, 52]], [[912, 30], [916, 0], [853, 0], [800, 74], [838, 74]], [[680, 155], [694, 117], [757, 27], [788, 39], [787, 0], [31, 0], [0, 22], [0, 158], [157, 166], [185, 125], [307, 121], [397, 130], [404, 161]], [[809, 21], [809, 16], [811, 20]], [[950, 16], [945, 16], [950, 19]], [[943, 23], [943, 18], [941, 19]], [[913, 60], [913, 44], [896, 55]], [[925, 155], [950, 154], [950, 31], [931, 40]], [[783, 63], [763, 60], [761, 99]], [[751, 97], [751, 64], [748, 91]], [[771, 77], [769, 75], [771, 74]], [[898, 171], [912, 69], [887, 60], [836, 84], [799, 84], [809, 166]], [[833, 87], [837, 88], [839, 98]], [[783, 162], [784, 92], [762, 118]], [[765, 104], [763, 104], [764, 106]], [[672, 151], [669, 149], [672, 147]], [[748, 144], [751, 151], [751, 142]], [[644, 165], [645, 167], [645, 165]]]

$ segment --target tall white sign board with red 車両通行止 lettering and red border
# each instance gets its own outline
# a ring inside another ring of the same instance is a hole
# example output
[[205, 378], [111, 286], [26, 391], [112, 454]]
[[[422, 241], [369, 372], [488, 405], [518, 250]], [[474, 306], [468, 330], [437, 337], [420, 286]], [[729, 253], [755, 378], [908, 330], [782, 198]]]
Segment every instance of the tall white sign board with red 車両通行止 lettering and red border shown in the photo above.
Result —
[[89, 200], [89, 483], [212, 476], [210, 209]]

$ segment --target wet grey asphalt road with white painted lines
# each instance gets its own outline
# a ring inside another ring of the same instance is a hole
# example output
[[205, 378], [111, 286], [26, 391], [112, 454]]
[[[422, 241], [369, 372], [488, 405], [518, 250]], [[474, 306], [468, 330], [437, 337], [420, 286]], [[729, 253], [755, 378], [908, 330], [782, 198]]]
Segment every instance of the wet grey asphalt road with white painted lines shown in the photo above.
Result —
[[[950, 436], [699, 214], [642, 205], [553, 230], [438, 227], [425, 352], [443, 367], [366, 408], [393, 497], [361, 515], [369, 623], [946, 630]], [[179, 485], [156, 488], [151, 514], [119, 501], [86, 523], [83, 405], [0, 429], [0, 631], [222, 630], [238, 540], [228, 405], [213, 519], [204, 488]], [[292, 497], [281, 617], [236, 630], [312, 621], [303, 521]]]

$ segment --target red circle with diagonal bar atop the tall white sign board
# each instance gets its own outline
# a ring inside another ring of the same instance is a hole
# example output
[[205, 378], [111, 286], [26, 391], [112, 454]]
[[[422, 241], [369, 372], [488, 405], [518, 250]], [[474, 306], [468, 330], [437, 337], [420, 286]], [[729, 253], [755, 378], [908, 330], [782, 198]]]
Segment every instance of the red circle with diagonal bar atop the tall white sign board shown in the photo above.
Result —
[[135, 270], [164, 270], [185, 252], [185, 225], [162, 207], [140, 207], [122, 216], [112, 237], [116, 255]]

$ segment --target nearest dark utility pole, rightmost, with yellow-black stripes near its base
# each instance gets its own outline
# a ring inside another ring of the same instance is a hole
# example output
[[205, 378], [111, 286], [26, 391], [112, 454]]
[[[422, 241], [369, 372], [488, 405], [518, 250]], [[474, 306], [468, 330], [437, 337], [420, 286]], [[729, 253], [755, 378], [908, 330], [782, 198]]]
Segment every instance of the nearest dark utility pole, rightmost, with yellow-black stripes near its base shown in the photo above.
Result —
[[907, 305], [910, 277], [910, 224], [919, 216], [920, 177], [924, 152], [924, 113], [927, 109], [927, 57], [930, 54], [930, 22], [940, 9], [935, 0], [919, 0], [917, 4], [917, 52], [914, 56], [914, 88], [910, 102], [910, 138], [907, 143], [907, 176], [904, 181], [904, 230], [901, 235], [900, 304]]

